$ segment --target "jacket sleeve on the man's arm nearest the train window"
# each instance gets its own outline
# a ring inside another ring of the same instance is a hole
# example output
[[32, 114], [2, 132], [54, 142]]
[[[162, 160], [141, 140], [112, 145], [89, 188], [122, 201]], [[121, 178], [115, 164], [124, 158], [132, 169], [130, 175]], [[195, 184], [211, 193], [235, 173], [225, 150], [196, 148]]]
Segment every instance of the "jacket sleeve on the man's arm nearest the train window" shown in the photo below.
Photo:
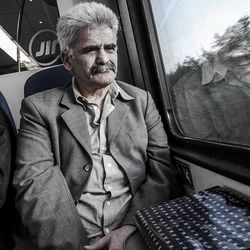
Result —
[[133, 196], [123, 224], [135, 224], [138, 209], [148, 207], [182, 194], [178, 172], [171, 161], [168, 138], [151, 95], [147, 95], [145, 124], [148, 133], [146, 178]]

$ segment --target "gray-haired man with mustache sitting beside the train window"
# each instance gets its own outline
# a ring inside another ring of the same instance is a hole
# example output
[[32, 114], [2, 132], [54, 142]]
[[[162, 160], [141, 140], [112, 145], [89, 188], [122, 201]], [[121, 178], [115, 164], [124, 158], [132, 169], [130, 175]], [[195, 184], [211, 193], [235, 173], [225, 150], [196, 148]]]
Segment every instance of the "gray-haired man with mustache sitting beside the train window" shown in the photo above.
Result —
[[38, 249], [122, 249], [138, 208], [180, 190], [149, 93], [115, 81], [118, 19], [81, 3], [59, 19], [72, 84], [21, 108], [16, 204]]

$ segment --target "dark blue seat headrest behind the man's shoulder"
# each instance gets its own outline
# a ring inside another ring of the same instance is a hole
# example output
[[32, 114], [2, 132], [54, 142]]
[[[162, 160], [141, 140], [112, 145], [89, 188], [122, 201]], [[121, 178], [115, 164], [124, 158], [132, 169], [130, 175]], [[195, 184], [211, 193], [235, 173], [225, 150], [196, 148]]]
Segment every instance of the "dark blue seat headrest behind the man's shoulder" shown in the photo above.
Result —
[[63, 86], [71, 82], [72, 74], [63, 65], [57, 65], [36, 72], [24, 85], [24, 97], [43, 90]]

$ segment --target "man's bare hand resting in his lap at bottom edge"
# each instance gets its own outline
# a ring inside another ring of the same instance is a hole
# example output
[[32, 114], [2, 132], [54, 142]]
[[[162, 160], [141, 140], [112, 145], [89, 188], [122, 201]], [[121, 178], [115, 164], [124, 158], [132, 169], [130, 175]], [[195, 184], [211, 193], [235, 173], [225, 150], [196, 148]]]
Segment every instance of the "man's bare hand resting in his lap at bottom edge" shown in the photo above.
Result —
[[136, 229], [135, 226], [122, 226], [108, 235], [97, 240], [90, 246], [85, 246], [86, 250], [123, 250], [123, 243], [126, 238]]

